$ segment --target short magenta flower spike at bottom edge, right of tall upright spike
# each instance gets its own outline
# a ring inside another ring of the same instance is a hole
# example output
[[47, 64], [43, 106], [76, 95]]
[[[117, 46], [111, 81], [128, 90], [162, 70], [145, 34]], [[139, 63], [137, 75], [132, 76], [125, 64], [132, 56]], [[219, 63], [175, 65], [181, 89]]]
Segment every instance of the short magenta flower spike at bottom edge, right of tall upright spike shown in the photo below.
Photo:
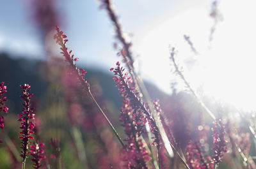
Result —
[[33, 156], [31, 161], [33, 162], [33, 167], [35, 169], [40, 168], [42, 159], [45, 159], [44, 156], [44, 143], [38, 144], [37, 142], [33, 142], [33, 145], [30, 145], [29, 154]]

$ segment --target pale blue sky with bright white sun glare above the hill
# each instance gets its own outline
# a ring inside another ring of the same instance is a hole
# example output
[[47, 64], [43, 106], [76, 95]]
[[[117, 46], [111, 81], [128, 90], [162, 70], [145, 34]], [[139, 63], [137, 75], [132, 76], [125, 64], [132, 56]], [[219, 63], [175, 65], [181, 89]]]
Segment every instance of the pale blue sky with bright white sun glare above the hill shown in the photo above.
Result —
[[[27, 1], [0, 1], [0, 51], [34, 59], [44, 58], [42, 38], [31, 20]], [[115, 0], [115, 11], [125, 34], [131, 38], [132, 54], [140, 75], [170, 92], [173, 75], [169, 47], [177, 49], [177, 61], [196, 90], [230, 102], [238, 108], [256, 110], [255, 24], [253, 0], [222, 0], [223, 17], [216, 25], [209, 13], [211, 0]], [[113, 48], [115, 33], [99, 1], [62, 0], [58, 2], [61, 29], [68, 36], [68, 47], [79, 62], [108, 71], [122, 60]], [[198, 54], [184, 40], [193, 42]], [[182, 82], [178, 87], [182, 88]]]

